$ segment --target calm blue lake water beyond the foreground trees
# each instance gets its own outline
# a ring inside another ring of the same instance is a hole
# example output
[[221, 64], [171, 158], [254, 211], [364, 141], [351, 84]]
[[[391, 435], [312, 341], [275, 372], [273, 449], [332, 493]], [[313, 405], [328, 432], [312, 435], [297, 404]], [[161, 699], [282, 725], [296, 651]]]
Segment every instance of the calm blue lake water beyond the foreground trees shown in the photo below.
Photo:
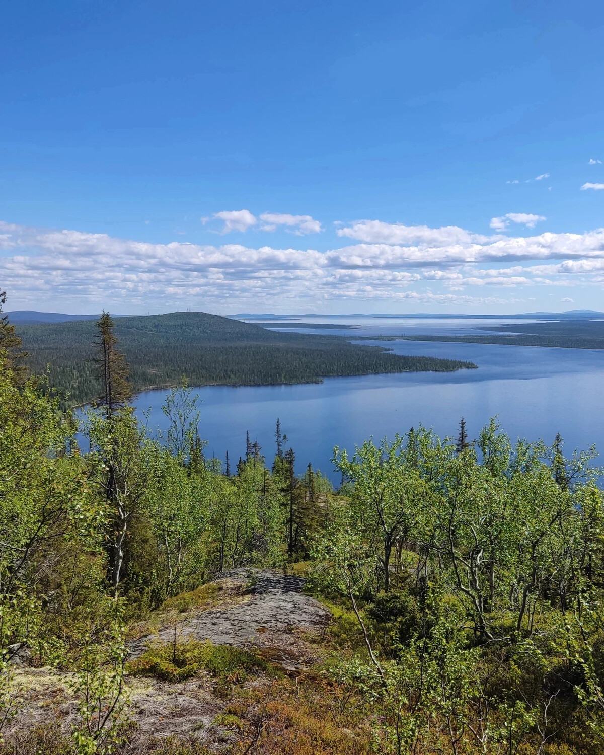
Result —
[[[376, 334], [372, 327], [357, 332]], [[445, 326], [418, 325], [414, 332], [467, 332], [472, 327], [476, 324], [449, 321]], [[390, 323], [377, 329], [382, 334], [402, 332], [400, 325]], [[411, 332], [408, 322], [405, 331]], [[347, 331], [336, 333], [344, 336]], [[418, 341], [381, 345], [399, 354], [463, 359], [478, 369], [334, 377], [322, 384], [199, 388], [199, 433], [208, 440], [208, 455], [223, 459], [228, 449], [234, 464], [245, 453], [249, 430], [251, 440], [257, 439], [272, 459], [279, 417], [296, 452], [297, 470], [310, 461], [337, 482], [329, 461], [334, 445], [353, 450], [370, 436], [391, 438], [420, 424], [441, 436], [455, 435], [462, 415], [474, 437], [495, 414], [512, 439], [552, 442], [559, 432], [568, 453], [592, 444], [604, 450], [604, 350]], [[137, 397], [138, 411], [150, 409], [150, 428], [165, 428], [161, 407], [166, 393], [153, 390]]]

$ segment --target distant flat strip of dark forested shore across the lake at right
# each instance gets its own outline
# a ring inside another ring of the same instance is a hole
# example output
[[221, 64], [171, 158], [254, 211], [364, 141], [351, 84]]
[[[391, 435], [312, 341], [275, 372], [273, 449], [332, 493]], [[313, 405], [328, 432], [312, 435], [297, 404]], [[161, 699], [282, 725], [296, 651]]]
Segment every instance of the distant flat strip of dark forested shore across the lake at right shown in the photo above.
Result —
[[459, 336], [405, 335], [405, 341], [451, 341], [457, 344], [503, 344], [548, 346], [560, 349], [604, 349], [604, 320], [562, 320], [559, 322], [493, 325], [488, 334]]

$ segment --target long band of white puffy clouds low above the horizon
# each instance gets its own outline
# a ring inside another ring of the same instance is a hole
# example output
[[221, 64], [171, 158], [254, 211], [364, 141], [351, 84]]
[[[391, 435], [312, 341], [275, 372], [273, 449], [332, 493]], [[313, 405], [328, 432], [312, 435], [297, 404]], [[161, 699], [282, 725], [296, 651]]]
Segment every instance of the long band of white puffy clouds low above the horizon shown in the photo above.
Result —
[[[260, 218], [251, 224], [241, 211], [235, 212], [220, 220], [248, 228], [270, 222]], [[515, 216], [504, 217], [525, 224], [540, 219]], [[290, 230], [301, 224], [282, 223]], [[486, 304], [499, 300], [454, 292], [604, 284], [604, 228], [481, 236], [455, 226], [361, 220], [338, 233], [353, 243], [318, 251], [183, 240], [153, 244], [104, 233], [0, 223], [0, 284], [12, 300], [23, 303], [69, 297], [85, 301], [91, 309], [114, 302], [111, 306], [122, 311], [160, 301], [174, 307], [195, 303], [207, 310], [213, 301], [220, 307], [231, 302], [234, 309], [236, 302], [262, 306], [288, 298], [317, 303], [350, 299]], [[427, 290], [432, 285], [441, 291]]]

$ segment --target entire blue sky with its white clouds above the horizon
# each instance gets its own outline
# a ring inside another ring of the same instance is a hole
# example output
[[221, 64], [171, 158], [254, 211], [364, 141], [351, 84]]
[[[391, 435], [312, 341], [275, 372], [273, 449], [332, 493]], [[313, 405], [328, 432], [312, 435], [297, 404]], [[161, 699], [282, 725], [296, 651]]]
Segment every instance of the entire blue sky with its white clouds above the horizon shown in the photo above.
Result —
[[8, 308], [604, 309], [602, 48], [585, 0], [7, 3]]

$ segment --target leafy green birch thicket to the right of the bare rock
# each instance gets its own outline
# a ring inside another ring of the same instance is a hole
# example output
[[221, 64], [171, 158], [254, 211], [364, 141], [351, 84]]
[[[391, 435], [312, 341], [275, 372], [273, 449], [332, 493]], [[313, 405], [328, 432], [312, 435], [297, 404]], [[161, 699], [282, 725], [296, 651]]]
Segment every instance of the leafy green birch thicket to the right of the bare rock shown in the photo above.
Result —
[[590, 455], [513, 447], [492, 421], [476, 450], [419, 430], [335, 461], [350, 501], [316, 542], [313, 584], [353, 608], [366, 652], [347, 673], [384, 711], [377, 749], [544, 753], [560, 727], [602, 747]]

